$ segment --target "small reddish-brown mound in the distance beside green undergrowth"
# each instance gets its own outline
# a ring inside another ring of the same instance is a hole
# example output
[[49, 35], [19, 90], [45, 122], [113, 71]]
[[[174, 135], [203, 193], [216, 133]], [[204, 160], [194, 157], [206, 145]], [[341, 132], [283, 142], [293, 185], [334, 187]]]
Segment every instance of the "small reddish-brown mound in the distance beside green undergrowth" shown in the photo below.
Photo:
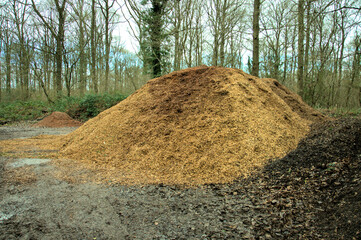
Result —
[[53, 112], [41, 121], [35, 123], [34, 127], [79, 127], [82, 123], [72, 119], [68, 114], [63, 112]]

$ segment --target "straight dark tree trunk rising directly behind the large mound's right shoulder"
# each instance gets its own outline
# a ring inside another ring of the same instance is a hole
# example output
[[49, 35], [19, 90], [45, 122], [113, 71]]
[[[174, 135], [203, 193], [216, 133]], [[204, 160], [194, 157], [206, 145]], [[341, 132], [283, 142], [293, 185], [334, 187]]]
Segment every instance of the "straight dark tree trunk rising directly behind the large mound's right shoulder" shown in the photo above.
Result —
[[259, 76], [259, 17], [261, 1], [254, 0], [253, 3], [253, 57], [252, 57], [252, 75]]

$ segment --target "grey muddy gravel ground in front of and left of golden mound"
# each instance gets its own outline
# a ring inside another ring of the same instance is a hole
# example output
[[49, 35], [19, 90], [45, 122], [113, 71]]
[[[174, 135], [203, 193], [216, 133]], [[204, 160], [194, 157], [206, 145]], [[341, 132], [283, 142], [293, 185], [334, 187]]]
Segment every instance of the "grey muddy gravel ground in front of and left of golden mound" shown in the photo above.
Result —
[[[1, 127], [0, 133], [11, 139], [72, 130]], [[51, 161], [1, 157], [0, 164], [0, 239], [252, 238], [253, 218], [262, 214], [242, 189], [74, 184], [49, 177]], [[17, 168], [29, 168], [32, 177], [12, 180]]]

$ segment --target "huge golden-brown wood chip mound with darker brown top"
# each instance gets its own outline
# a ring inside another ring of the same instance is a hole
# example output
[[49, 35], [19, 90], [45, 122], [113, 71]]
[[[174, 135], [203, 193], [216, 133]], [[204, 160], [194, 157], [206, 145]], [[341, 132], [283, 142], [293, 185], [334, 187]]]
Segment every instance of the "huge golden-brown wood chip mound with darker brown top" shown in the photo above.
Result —
[[277, 94], [285, 89], [236, 69], [176, 71], [67, 135], [61, 154], [123, 184], [230, 182], [285, 156], [322, 120], [297, 95]]

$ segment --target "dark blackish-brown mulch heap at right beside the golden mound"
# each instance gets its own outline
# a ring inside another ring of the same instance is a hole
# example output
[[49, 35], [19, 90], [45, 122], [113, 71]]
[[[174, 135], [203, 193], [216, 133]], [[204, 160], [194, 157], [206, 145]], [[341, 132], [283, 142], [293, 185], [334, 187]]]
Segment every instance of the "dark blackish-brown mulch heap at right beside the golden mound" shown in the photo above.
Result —
[[361, 239], [361, 119], [315, 124], [297, 149], [246, 181], [269, 215], [255, 220], [256, 235]]

